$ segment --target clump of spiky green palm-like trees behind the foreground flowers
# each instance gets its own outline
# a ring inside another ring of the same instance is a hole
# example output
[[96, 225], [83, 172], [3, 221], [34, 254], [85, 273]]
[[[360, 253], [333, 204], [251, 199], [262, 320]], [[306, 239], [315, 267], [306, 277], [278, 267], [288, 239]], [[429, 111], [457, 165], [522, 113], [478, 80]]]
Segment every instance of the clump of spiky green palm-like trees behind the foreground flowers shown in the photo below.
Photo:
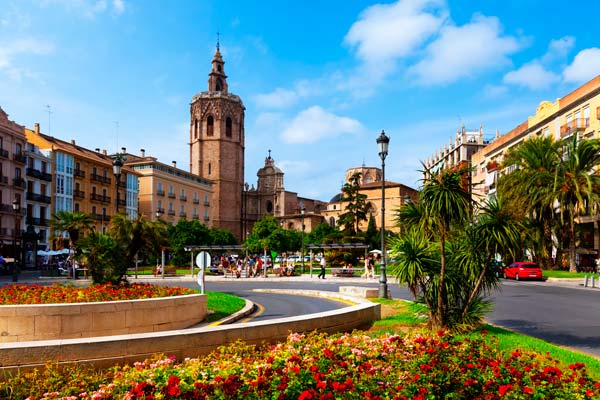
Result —
[[[452, 189], [452, 184], [444, 182], [454, 178], [432, 176], [438, 180], [434, 184], [441, 184], [446, 190], [437, 188], [438, 195], [428, 193], [428, 197], [421, 191], [420, 201], [401, 207], [398, 218], [403, 229], [389, 245], [398, 261], [390, 265], [390, 272], [400, 283], [407, 284], [417, 301], [426, 305], [433, 328], [448, 326], [467, 330], [479, 325], [490, 310], [491, 304], [485, 297], [499, 284], [498, 277], [489, 269], [490, 261], [496, 253], [516, 248], [520, 227], [496, 200], [483, 207], [475, 218], [471, 218], [468, 211], [457, 213], [450, 205], [461, 203], [462, 195], [456, 201], [455, 195], [449, 192], [460, 193], [463, 188], [454, 186]], [[446, 194], [441, 196], [443, 192]], [[438, 203], [447, 204], [443, 209], [450, 211], [432, 216], [435, 208], [424, 200], [440, 197], [447, 197]], [[446, 222], [440, 222], [443, 215]], [[439, 232], [442, 229], [446, 233], [443, 238]]]

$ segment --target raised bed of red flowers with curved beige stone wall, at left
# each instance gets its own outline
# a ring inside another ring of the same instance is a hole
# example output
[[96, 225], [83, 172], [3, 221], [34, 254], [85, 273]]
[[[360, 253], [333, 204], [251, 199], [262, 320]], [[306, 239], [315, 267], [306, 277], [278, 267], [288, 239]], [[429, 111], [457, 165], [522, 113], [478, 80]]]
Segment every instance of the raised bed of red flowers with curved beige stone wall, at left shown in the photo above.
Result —
[[0, 303], [4, 343], [183, 329], [208, 311], [205, 295], [152, 285], [13, 285], [0, 290]]

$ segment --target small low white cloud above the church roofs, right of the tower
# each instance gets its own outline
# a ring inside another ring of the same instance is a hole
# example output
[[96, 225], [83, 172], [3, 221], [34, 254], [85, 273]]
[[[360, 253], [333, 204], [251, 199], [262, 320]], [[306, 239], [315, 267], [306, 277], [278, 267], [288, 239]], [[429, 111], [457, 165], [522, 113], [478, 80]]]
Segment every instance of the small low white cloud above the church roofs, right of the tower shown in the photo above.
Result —
[[292, 119], [282, 133], [286, 143], [315, 143], [344, 134], [358, 134], [363, 126], [355, 119], [340, 117], [312, 106]]

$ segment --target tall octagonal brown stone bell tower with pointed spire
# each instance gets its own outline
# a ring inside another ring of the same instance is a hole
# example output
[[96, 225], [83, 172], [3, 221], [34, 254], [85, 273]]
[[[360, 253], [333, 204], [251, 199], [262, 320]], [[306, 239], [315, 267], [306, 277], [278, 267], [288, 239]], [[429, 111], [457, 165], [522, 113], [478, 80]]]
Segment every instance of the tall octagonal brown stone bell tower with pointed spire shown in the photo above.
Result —
[[228, 229], [241, 240], [245, 107], [229, 93], [218, 42], [211, 64], [208, 90], [190, 105], [190, 172], [214, 182], [212, 202], [201, 204], [209, 208], [212, 227]]

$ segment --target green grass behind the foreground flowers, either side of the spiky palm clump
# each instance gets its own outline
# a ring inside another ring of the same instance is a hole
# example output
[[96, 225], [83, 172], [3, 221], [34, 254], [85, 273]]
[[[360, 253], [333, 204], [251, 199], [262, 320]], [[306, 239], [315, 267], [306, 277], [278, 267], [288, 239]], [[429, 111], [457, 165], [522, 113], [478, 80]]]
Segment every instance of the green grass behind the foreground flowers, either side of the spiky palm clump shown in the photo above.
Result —
[[[378, 335], [426, 329], [427, 310], [423, 305], [405, 300], [373, 299], [373, 301], [381, 303], [382, 319], [373, 324], [369, 330], [370, 333]], [[487, 337], [490, 341], [495, 340], [494, 338], [498, 339], [497, 346], [501, 351], [508, 353], [516, 349], [522, 349], [523, 351], [538, 354], [548, 353], [564, 366], [583, 363], [586, 365], [589, 375], [594, 379], [600, 380], [600, 359], [592, 355], [571, 351], [541, 339], [487, 324], [470, 335], [480, 336], [482, 330], [488, 332]]]

